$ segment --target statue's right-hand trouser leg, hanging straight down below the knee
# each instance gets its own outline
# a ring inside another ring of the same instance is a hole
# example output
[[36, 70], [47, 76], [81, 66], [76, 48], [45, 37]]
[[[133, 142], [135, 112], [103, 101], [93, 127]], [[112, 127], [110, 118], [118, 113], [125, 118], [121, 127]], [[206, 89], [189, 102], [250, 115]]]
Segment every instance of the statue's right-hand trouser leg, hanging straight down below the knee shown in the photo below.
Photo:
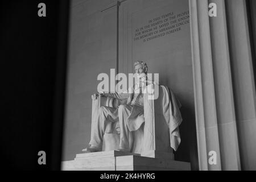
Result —
[[[119, 148], [123, 148], [127, 151], [130, 151], [129, 139], [132, 139], [132, 134], [128, 129], [126, 120], [131, 113], [131, 109], [133, 109], [133, 107], [130, 105], [118, 106], [118, 117], [119, 117], [119, 125], [120, 125]], [[130, 141], [130, 142], [132, 143], [133, 141]]]

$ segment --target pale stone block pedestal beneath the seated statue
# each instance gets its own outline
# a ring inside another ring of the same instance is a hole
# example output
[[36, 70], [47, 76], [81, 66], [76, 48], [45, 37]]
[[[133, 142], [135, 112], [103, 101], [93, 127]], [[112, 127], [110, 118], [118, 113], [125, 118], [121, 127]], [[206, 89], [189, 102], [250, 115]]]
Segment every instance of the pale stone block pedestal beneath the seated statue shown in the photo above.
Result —
[[148, 158], [139, 154], [104, 151], [77, 154], [75, 160], [61, 163], [64, 171], [190, 171], [190, 163], [171, 159]]

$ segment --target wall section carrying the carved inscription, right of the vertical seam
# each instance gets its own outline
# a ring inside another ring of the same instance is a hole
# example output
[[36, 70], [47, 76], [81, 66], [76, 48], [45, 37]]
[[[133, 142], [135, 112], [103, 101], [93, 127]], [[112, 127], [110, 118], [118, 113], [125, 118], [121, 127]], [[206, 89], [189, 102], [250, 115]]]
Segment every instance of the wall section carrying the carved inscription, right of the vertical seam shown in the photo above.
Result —
[[197, 168], [189, 3], [135, 1], [119, 9], [119, 71], [133, 72], [135, 60], [144, 60], [149, 73], [159, 73], [160, 84], [173, 90], [181, 102], [181, 144], [175, 159]]

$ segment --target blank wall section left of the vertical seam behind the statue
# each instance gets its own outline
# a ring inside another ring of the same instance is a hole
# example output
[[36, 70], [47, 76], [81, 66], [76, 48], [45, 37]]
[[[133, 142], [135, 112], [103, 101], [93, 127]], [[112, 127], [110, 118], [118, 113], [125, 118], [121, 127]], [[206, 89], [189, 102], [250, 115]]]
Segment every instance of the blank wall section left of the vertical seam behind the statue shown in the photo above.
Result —
[[88, 145], [97, 76], [117, 65], [116, 10], [101, 12], [113, 2], [71, 1], [63, 160]]

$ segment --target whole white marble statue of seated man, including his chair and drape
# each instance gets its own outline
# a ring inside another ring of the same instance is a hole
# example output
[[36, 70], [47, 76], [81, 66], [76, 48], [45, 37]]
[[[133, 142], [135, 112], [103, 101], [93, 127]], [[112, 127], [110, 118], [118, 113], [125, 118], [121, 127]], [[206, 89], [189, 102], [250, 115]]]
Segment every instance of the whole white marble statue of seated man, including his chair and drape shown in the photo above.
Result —
[[[137, 79], [128, 92], [93, 94], [91, 138], [82, 151], [104, 151], [111, 148], [108, 145], [123, 152], [177, 150], [182, 122], [179, 101], [170, 89], [147, 77], [146, 63], [136, 61], [134, 70]], [[156, 84], [159, 96], [150, 100], [144, 89], [155, 88]], [[101, 98], [107, 103], [104, 106]], [[108, 137], [105, 143], [104, 137]]]

